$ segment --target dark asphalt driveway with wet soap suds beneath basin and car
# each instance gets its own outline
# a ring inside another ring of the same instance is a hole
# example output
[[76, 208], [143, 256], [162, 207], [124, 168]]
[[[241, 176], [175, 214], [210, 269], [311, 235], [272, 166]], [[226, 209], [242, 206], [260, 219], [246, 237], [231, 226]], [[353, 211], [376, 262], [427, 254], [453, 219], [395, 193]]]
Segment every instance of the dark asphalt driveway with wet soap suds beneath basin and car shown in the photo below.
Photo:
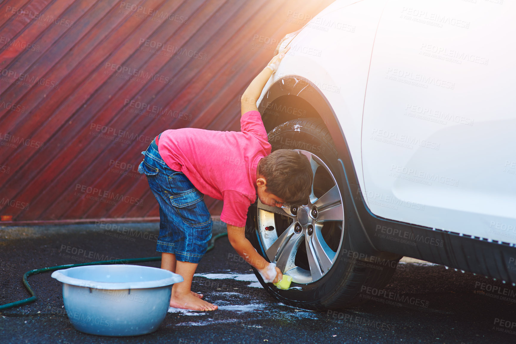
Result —
[[[100, 225], [0, 227], [0, 303], [28, 297], [22, 276], [31, 269], [86, 263], [85, 253], [89, 256], [89, 252], [111, 259], [156, 256], [157, 228], [155, 223], [120, 224], [117, 231]], [[223, 230], [220, 225], [214, 229]], [[72, 253], [79, 249], [84, 250], [80, 255]], [[159, 262], [142, 265], [159, 267]], [[250, 266], [238, 258], [227, 237], [217, 240], [197, 273], [193, 290], [202, 292], [219, 309], [170, 309], [156, 332], [137, 337], [101, 337], [76, 331], [63, 308], [61, 283], [52, 279], [51, 273], [31, 276], [29, 283], [38, 300], [0, 313], [0, 342], [516, 342], [516, 287], [421, 261], [401, 263], [384, 288], [417, 302], [392, 304], [389, 299], [372, 296], [374, 300], [364, 305], [336, 312], [311, 312], [270, 297], [257, 286]]]

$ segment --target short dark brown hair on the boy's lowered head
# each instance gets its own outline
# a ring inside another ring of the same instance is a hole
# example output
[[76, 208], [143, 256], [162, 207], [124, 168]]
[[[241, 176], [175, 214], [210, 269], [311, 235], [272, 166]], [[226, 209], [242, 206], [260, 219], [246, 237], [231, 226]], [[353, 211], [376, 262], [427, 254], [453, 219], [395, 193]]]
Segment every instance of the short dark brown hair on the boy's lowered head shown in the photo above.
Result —
[[308, 204], [313, 172], [303, 154], [287, 149], [274, 151], [260, 160], [258, 173], [267, 181], [266, 192], [287, 204]]

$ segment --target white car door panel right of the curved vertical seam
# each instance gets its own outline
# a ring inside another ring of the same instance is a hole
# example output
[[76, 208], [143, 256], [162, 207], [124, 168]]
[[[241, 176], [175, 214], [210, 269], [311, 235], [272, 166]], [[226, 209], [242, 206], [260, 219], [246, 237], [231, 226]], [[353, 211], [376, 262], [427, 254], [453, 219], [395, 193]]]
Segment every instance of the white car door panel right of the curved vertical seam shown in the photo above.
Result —
[[386, 5], [362, 126], [363, 193], [374, 214], [516, 242], [515, 10]]

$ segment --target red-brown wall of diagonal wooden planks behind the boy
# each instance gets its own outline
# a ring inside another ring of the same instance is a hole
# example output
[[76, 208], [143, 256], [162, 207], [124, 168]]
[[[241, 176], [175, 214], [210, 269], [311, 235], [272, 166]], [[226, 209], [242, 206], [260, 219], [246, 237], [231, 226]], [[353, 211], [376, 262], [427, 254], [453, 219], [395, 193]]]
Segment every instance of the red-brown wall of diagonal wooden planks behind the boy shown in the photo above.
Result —
[[140, 152], [165, 129], [239, 130], [278, 40], [331, 2], [3, 1], [2, 223], [155, 219]]

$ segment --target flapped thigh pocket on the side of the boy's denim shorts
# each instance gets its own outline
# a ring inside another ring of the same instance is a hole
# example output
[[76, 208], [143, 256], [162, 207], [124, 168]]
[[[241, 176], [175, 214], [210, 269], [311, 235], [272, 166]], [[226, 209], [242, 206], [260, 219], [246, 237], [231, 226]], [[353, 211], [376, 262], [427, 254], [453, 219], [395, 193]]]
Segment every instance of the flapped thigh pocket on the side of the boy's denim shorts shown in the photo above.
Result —
[[212, 216], [203, 200], [203, 194], [196, 188], [179, 195], [171, 195], [170, 202], [179, 212], [183, 221], [192, 227], [212, 225]]

